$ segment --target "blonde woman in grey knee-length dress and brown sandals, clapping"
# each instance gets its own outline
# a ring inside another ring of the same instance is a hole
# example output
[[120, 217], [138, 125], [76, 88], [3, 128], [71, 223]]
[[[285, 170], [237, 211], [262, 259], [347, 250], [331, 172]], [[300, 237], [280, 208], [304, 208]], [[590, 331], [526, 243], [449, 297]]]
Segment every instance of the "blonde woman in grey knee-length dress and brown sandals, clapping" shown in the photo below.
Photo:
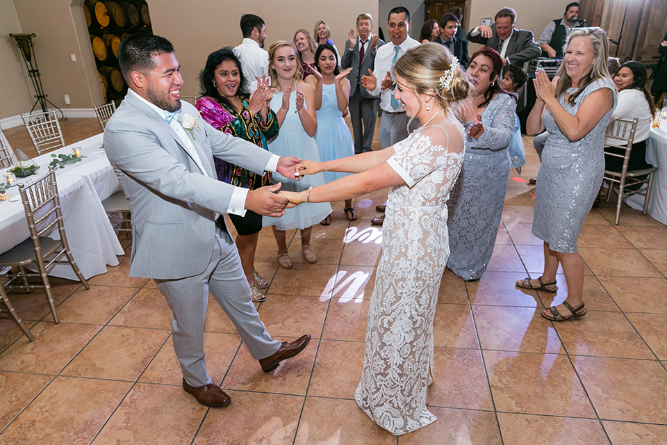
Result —
[[526, 278], [516, 285], [555, 292], [561, 264], [568, 297], [562, 305], [542, 312], [552, 321], [586, 314], [584, 260], [577, 252], [577, 238], [602, 184], [604, 129], [616, 107], [608, 54], [602, 29], [577, 29], [568, 38], [557, 78], [549, 81], [540, 70], [534, 80], [537, 101], [527, 130], [532, 134], [549, 131], [537, 175], [532, 230], [544, 241], [544, 270], [537, 280]]

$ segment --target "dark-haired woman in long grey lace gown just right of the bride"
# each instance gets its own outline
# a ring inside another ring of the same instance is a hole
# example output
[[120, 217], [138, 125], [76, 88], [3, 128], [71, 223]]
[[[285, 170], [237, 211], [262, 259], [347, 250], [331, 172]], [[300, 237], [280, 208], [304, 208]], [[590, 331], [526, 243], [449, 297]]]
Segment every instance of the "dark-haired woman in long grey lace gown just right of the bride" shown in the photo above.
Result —
[[468, 76], [474, 88], [466, 120], [466, 154], [447, 201], [450, 259], [447, 267], [466, 281], [478, 280], [493, 253], [511, 169], [509, 141], [516, 99], [500, 86], [502, 59], [484, 47], [472, 54]]

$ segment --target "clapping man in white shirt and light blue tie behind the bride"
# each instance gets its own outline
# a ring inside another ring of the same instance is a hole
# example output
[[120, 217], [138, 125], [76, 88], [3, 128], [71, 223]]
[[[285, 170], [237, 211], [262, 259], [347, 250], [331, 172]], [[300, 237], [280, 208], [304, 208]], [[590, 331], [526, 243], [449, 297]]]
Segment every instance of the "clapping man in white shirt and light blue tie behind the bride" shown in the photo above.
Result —
[[[405, 51], [419, 45], [408, 35], [412, 22], [410, 12], [403, 6], [397, 6], [389, 11], [387, 19], [388, 36], [391, 44], [379, 47], [375, 55], [374, 70], [368, 70], [368, 76], [361, 76], [361, 86], [368, 90], [370, 95], [380, 97], [382, 118], [380, 120], [380, 147], [386, 148], [408, 137], [407, 125], [409, 118], [400, 101], [394, 99], [396, 82], [392, 70], [397, 60]], [[379, 79], [382, 79], [381, 81]], [[419, 127], [419, 120], [412, 121], [411, 129]], [[377, 211], [384, 212], [384, 206], [377, 206]], [[373, 225], [382, 225], [384, 215], [372, 220]]]

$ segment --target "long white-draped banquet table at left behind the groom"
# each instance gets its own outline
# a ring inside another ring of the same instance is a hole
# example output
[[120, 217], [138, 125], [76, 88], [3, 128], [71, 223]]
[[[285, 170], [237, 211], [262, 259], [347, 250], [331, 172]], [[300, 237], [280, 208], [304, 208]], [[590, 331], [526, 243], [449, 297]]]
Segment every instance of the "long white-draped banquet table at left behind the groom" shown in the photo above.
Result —
[[[81, 161], [63, 169], [56, 168], [56, 182], [69, 249], [86, 279], [105, 273], [106, 266], [117, 266], [117, 255], [124, 253], [102, 207], [102, 200], [121, 190], [104, 154], [102, 137], [100, 133], [42, 154], [32, 159], [33, 163], [40, 165], [35, 175], [17, 178], [18, 184], [34, 181], [48, 172], [49, 163], [53, 160], [51, 154], [72, 154], [73, 147], [81, 148]], [[0, 170], [1, 182], [6, 182], [5, 173], [6, 170]], [[9, 188], [8, 195], [11, 200], [0, 201], [0, 252], [6, 252], [30, 237], [23, 204], [17, 199], [18, 187]], [[57, 238], [58, 231], [54, 231], [51, 237]], [[77, 279], [69, 264], [56, 264], [49, 275]]]

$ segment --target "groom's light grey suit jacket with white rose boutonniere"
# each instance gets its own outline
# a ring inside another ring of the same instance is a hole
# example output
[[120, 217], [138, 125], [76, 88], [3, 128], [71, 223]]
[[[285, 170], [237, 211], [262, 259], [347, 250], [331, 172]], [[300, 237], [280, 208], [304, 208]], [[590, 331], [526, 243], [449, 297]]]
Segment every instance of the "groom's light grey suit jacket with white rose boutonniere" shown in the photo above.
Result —
[[198, 118], [192, 143], [206, 175], [163, 116], [131, 94], [104, 130], [106, 155], [130, 201], [132, 277], [176, 280], [203, 272], [215, 243], [215, 213], [227, 211], [235, 188], [217, 180], [213, 156], [258, 174], [271, 158], [182, 104], [182, 114]]

